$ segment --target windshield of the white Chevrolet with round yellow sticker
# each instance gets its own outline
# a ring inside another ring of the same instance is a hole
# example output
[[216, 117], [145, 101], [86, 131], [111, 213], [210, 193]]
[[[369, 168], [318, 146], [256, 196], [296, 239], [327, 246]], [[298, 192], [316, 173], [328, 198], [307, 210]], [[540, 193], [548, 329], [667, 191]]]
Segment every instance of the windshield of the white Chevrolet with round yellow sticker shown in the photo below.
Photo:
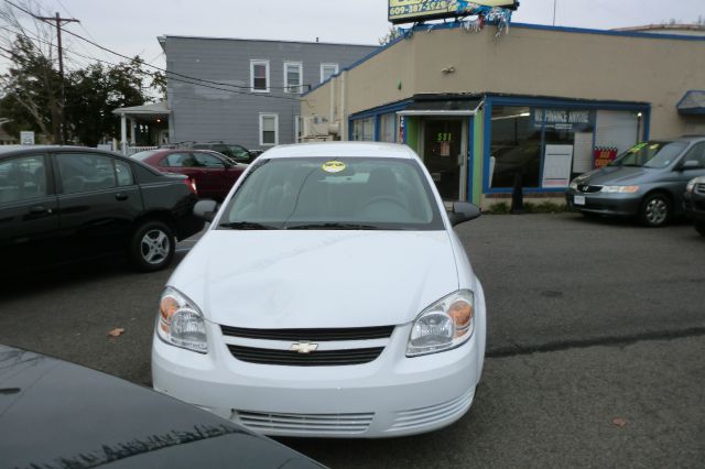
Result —
[[221, 229], [443, 229], [419, 163], [399, 159], [265, 160], [224, 214]]

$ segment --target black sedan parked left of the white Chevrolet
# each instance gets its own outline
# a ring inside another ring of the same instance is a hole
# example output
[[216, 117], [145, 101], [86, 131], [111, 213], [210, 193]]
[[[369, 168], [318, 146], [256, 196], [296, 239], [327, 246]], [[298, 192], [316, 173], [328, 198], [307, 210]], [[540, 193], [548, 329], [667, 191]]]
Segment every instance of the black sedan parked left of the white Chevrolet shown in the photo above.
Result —
[[72, 146], [0, 148], [0, 255], [6, 273], [127, 254], [163, 269], [176, 240], [203, 229], [182, 175]]

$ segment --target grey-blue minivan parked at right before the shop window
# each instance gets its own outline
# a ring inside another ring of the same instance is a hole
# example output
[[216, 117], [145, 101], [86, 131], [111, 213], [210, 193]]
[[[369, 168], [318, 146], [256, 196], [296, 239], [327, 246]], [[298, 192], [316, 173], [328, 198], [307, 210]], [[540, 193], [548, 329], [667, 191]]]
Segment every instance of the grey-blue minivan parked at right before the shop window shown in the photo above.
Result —
[[575, 178], [566, 199], [585, 215], [638, 217], [648, 227], [662, 227], [683, 214], [685, 185], [703, 175], [705, 137], [643, 142]]

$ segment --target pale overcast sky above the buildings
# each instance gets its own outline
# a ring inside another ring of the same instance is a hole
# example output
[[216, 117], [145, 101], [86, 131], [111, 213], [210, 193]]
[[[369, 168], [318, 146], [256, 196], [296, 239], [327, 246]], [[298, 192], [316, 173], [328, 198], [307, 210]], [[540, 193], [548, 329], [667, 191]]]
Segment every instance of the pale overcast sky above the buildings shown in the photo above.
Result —
[[[15, 0], [17, 1], [17, 0]], [[80, 23], [65, 28], [123, 55], [164, 67], [160, 35], [378, 44], [390, 23], [388, 0], [34, 0], [45, 13]], [[554, 0], [520, 0], [512, 21], [552, 24]], [[4, 0], [0, 0], [4, 2]], [[555, 0], [555, 24], [593, 29], [705, 18], [705, 0]], [[511, 30], [509, 32], [511, 34]], [[66, 36], [66, 35], [65, 35]], [[111, 62], [119, 57], [75, 37], [69, 51]], [[68, 54], [69, 66], [84, 57]]]

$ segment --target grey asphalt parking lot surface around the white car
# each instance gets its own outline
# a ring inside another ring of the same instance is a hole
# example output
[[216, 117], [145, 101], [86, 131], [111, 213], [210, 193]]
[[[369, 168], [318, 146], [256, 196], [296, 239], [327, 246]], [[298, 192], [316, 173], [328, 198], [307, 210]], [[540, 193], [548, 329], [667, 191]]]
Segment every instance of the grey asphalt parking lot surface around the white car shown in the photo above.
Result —
[[[488, 302], [468, 414], [415, 437], [284, 444], [334, 468], [703, 467], [705, 238], [575, 214], [485, 216], [457, 232]], [[115, 261], [6, 282], [0, 342], [149, 385], [169, 275]]]

